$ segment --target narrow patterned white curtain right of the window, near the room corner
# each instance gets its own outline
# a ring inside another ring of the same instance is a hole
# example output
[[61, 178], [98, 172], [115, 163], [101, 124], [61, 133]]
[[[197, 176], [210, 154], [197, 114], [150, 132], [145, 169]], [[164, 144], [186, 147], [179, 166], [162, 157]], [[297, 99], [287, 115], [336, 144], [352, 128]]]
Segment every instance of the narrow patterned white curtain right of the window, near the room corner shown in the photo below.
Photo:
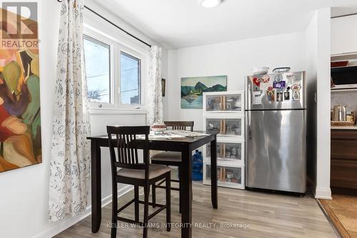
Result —
[[154, 122], [163, 122], [164, 112], [161, 91], [161, 47], [151, 46], [149, 59], [149, 80], [147, 85], [147, 115], [148, 126]]

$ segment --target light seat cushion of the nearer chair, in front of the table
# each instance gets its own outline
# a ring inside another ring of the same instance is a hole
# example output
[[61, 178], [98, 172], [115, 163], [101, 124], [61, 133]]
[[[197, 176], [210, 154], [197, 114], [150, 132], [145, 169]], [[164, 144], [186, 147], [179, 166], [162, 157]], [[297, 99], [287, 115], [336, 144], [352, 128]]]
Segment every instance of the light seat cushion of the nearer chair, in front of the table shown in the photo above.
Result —
[[[166, 165], [150, 164], [149, 179], [154, 179], [170, 171], [171, 171], [170, 167], [167, 167]], [[145, 179], [144, 169], [119, 169], [117, 174], [118, 176], [121, 177], [128, 177], [133, 179]]]

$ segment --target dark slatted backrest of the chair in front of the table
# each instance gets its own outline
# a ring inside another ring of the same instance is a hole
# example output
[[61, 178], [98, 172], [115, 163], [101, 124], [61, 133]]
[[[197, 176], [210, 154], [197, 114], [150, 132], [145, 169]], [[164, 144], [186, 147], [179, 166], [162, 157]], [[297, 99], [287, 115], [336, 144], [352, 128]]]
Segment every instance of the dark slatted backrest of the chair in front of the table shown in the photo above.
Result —
[[[111, 169], [116, 173], [116, 168], [146, 169], [149, 172], [149, 133], [150, 127], [113, 127], [107, 126], [109, 149], [111, 155]], [[137, 136], [144, 145], [144, 163], [139, 162]], [[117, 149], [117, 154], [115, 153]], [[146, 174], [146, 173], [145, 173]]]

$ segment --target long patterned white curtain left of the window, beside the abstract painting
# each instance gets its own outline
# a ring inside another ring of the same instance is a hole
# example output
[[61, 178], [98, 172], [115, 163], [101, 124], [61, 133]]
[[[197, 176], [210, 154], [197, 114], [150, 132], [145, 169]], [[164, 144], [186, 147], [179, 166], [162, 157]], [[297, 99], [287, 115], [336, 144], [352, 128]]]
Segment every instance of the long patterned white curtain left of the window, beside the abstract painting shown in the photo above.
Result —
[[83, 48], [83, 0], [61, 6], [49, 181], [49, 220], [79, 215], [89, 198], [90, 134]]

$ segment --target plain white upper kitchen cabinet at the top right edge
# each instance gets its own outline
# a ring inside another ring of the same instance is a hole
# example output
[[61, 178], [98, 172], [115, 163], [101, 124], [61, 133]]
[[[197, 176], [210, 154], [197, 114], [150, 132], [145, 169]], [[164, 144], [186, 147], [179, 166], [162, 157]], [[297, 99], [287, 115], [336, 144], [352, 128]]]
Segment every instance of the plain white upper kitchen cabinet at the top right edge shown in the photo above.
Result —
[[357, 15], [331, 19], [331, 54], [357, 52]]

